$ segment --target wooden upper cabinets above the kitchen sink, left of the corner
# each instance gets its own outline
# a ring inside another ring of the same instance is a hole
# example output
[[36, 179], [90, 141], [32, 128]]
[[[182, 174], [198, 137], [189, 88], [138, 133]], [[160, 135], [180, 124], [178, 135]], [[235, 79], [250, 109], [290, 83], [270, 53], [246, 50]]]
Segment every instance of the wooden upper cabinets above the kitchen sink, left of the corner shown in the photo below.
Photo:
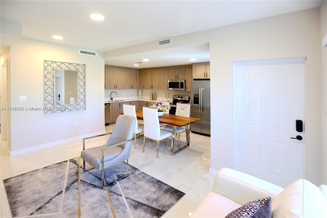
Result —
[[138, 89], [138, 69], [105, 65], [105, 90]]

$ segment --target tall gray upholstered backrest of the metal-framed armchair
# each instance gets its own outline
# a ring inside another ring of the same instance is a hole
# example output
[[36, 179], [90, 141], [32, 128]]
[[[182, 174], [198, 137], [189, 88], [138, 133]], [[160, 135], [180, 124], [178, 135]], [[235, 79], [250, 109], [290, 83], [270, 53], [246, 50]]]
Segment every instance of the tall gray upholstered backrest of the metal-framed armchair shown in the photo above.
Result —
[[[104, 145], [113, 145], [133, 138], [136, 118], [128, 115], [119, 115], [112, 129], [108, 141]], [[118, 145], [130, 149], [132, 141]]]

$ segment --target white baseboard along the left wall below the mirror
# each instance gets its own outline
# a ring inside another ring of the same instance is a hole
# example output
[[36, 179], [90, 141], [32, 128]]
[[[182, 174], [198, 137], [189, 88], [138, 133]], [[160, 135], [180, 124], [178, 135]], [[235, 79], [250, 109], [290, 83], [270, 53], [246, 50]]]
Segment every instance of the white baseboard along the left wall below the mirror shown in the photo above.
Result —
[[19, 150], [13, 150], [13, 151], [10, 151], [10, 157], [14, 157], [14, 156], [18, 156], [18, 155], [24, 155], [24, 154], [27, 154], [29, 152], [38, 151], [38, 150], [42, 150], [42, 149], [50, 148], [50, 147], [55, 147], [55, 146], [58, 146], [58, 145], [62, 145], [62, 144], [82, 140], [83, 138], [86, 138], [86, 137], [96, 136], [96, 135], [105, 134], [105, 133], [106, 133], [106, 131], [103, 130], [103, 131], [98, 132], [98, 133], [91, 133], [91, 134], [87, 134], [87, 135], [83, 135], [83, 136], [77, 136], [77, 137], [73, 137], [73, 138], [69, 138], [69, 139], [63, 139], [63, 140], [59, 140], [59, 141], [55, 141], [55, 142], [40, 144], [40, 145], [36, 145], [36, 146], [33, 146], [33, 147], [27, 147], [27, 148], [23, 148], [23, 149], [19, 149]]

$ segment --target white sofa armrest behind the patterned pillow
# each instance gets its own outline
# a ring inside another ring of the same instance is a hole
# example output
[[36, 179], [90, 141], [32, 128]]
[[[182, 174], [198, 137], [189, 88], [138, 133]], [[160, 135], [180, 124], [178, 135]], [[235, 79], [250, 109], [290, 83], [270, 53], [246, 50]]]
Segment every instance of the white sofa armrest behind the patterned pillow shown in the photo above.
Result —
[[267, 197], [273, 200], [283, 190], [280, 186], [230, 168], [218, 171], [213, 187], [213, 192], [240, 205]]

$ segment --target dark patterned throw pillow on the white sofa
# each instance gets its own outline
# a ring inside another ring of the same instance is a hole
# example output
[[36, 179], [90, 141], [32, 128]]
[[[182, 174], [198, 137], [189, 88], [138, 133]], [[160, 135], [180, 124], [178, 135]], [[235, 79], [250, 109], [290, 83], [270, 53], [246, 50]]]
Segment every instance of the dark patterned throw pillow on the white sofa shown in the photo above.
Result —
[[271, 198], [264, 198], [246, 203], [242, 207], [230, 212], [225, 218], [270, 218]]

